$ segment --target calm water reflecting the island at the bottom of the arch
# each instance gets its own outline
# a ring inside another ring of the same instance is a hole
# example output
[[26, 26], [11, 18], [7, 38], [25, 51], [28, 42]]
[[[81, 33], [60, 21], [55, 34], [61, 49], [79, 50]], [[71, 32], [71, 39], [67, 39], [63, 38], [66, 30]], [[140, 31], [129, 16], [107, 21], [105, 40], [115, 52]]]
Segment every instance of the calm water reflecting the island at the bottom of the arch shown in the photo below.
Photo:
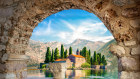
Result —
[[118, 70], [67, 70], [55, 73], [28, 70], [27, 79], [118, 79]]

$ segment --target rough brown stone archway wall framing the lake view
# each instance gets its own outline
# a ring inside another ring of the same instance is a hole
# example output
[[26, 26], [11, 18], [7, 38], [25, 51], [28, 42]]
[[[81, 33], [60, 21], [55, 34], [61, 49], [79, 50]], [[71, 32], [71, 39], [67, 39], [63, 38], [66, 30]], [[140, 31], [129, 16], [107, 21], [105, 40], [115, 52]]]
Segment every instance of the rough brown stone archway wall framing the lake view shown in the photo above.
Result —
[[0, 0], [0, 78], [24, 79], [28, 40], [47, 16], [66, 9], [97, 15], [117, 41], [120, 79], [140, 78], [139, 0]]

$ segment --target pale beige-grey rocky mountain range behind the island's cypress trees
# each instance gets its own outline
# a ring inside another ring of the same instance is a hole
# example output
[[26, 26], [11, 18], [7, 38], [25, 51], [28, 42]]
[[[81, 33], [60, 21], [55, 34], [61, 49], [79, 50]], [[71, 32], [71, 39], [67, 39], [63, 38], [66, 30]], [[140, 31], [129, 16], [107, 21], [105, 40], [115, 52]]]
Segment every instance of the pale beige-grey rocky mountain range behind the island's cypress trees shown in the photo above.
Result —
[[[46, 49], [47, 47], [50, 47], [51, 49], [58, 48], [60, 50], [61, 48], [60, 42], [47, 42], [43, 43], [40, 41], [34, 41], [30, 40], [29, 45], [26, 50], [26, 55], [30, 56], [29, 64], [33, 63], [41, 63], [44, 62]], [[90, 49], [91, 52], [97, 51], [101, 46], [103, 46], [105, 43], [101, 41], [93, 42], [89, 40], [84, 39], [76, 39], [71, 44], [63, 44], [65, 49], [69, 49], [71, 46], [73, 49], [73, 53], [76, 53], [77, 48], [82, 49], [84, 46], [87, 47], [87, 49]]]

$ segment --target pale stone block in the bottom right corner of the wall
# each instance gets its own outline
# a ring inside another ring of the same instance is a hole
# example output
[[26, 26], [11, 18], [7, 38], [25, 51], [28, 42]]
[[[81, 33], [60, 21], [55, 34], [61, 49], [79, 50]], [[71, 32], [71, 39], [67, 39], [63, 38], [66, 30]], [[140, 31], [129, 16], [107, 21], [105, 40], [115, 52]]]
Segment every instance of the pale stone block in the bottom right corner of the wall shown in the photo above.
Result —
[[122, 71], [120, 75], [120, 79], [139, 79], [140, 72], [126, 72]]

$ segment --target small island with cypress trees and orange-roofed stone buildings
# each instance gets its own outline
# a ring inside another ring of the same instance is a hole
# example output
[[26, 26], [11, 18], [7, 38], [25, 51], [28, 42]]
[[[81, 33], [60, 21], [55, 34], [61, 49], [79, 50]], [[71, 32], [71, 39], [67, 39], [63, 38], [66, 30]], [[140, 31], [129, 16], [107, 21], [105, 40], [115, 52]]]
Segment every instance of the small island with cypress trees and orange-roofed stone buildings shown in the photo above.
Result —
[[42, 68], [57, 67], [62, 66], [66, 69], [106, 69], [107, 61], [104, 55], [101, 53], [96, 53], [91, 55], [90, 49], [87, 50], [86, 47], [79, 50], [77, 49], [76, 54], [73, 54], [72, 47], [69, 47], [69, 54], [67, 49], [64, 51], [63, 44], [61, 45], [61, 50], [55, 48], [55, 50], [47, 47], [46, 56], [44, 64], [41, 65]]

